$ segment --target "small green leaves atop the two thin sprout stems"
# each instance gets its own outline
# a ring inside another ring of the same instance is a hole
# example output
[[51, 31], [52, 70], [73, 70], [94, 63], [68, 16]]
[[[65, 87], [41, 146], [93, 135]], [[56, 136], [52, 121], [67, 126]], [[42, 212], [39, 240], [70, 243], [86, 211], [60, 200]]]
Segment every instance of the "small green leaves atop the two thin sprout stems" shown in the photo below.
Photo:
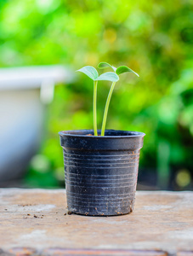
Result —
[[103, 81], [117, 82], [119, 80], [118, 76], [122, 73], [127, 73], [127, 72], [134, 73], [139, 77], [138, 73], [135, 73], [131, 68], [126, 67], [126, 66], [120, 66], [120, 67], [116, 68], [116, 67], [111, 66], [109, 63], [100, 62], [98, 67], [100, 69], [103, 69], [106, 67], [111, 67], [114, 72], [106, 72], [106, 73], [102, 73], [101, 75], [99, 75], [97, 70], [91, 66], [82, 67], [81, 69], [78, 69], [77, 71], [85, 73], [88, 76], [88, 78], [93, 79], [94, 81], [103, 80]]

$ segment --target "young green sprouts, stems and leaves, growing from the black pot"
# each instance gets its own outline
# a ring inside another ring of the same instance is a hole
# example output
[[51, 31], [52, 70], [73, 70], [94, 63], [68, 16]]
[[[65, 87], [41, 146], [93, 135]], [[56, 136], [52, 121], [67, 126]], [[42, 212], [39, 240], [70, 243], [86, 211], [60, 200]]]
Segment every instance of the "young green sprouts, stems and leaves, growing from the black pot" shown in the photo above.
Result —
[[[102, 122], [102, 128], [101, 128], [101, 134], [100, 136], [105, 136], [105, 124], [106, 124], [106, 119], [107, 119], [107, 113], [109, 109], [109, 104], [111, 101], [111, 95], [114, 90], [116, 82], [119, 80], [119, 75], [122, 73], [135, 73], [131, 68], [126, 67], [126, 66], [121, 66], [121, 67], [113, 67], [109, 63], [106, 62], [100, 62], [98, 67], [100, 69], [106, 68], [106, 67], [111, 67], [114, 72], [106, 72], [102, 73], [99, 75], [97, 70], [94, 67], [91, 66], [86, 66], [82, 67], [81, 69], [78, 69], [77, 71], [85, 73], [88, 78], [92, 79], [94, 81], [94, 100], [93, 100], [93, 112], [94, 112], [94, 136], [98, 136], [97, 132], [97, 84], [98, 81], [103, 80], [103, 81], [111, 81], [111, 89], [109, 91], [109, 94], [107, 96], [107, 100], [105, 103], [105, 111], [104, 111], [104, 116], [103, 116], [103, 122]], [[138, 73], [135, 73], [137, 76], [139, 76]]]

